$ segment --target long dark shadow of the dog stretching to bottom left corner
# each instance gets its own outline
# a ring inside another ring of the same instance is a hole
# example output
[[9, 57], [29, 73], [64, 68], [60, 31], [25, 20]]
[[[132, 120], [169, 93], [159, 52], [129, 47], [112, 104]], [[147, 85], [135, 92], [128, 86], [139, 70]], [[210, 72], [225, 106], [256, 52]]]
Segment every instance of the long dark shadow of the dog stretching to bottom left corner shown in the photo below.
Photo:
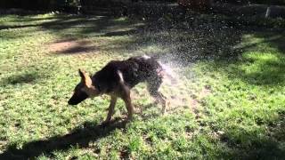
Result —
[[84, 127], [77, 127], [69, 134], [63, 136], [31, 141], [20, 149], [15, 145], [11, 145], [0, 155], [0, 159], [35, 159], [42, 154], [52, 156], [53, 151], [67, 150], [72, 146], [86, 148], [90, 141], [106, 137], [115, 129], [125, 128], [126, 123], [126, 120], [120, 118], [114, 119], [105, 125], [86, 122], [83, 124]]

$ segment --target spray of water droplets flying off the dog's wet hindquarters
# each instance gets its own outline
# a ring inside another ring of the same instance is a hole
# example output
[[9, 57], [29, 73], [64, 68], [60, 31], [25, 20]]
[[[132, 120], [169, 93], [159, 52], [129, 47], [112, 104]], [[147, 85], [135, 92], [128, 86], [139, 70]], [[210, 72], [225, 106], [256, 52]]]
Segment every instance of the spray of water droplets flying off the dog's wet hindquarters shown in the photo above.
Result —
[[147, 22], [132, 35], [134, 44], [126, 49], [129, 54], [159, 58], [169, 75], [164, 78], [161, 92], [170, 100], [171, 108], [191, 108], [191, 101], [195, 102], [191, 100], [194, 91], [187, 82], [197, 77], [188, 68], [199, 60], [214, 60], [224, 57], [224, 53], [233, 54], [232, 46], [240, 40], [237, 28], [216, 16], [198, 16], [186, 15], [185, 20], [178, 23], [164, 17]]

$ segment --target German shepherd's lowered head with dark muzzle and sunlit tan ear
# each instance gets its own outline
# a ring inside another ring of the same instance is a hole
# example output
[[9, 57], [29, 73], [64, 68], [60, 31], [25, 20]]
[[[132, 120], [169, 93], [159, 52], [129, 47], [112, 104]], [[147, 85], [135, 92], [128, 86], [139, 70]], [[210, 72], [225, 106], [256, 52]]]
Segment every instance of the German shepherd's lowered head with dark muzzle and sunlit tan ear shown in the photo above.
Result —
[[85, 71], [78, 70], [81, 76], [81, 82], [74, 89], [72, 97], [69, 99], [69, 105], [77, 105], [81, 101], [98, 96], [100, 92], [95, 88], [92, 79]]

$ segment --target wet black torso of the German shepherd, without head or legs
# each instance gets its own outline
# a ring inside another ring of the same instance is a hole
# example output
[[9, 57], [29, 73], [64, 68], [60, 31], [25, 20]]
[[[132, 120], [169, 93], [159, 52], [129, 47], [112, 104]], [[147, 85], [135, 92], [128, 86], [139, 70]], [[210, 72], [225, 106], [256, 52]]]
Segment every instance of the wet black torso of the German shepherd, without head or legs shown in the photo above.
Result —
[[[144, 81], [161, 81], [161, 70], [162, 67], [155, 58], [137, 56], [128, 60], [110, 61], [102, 70], [95, 73], [92, 79], [99, 90], [108, 93], [114, 91], [122, 79], [130, 88]], [[118, 73], [121, 73], [122, 77]]]

